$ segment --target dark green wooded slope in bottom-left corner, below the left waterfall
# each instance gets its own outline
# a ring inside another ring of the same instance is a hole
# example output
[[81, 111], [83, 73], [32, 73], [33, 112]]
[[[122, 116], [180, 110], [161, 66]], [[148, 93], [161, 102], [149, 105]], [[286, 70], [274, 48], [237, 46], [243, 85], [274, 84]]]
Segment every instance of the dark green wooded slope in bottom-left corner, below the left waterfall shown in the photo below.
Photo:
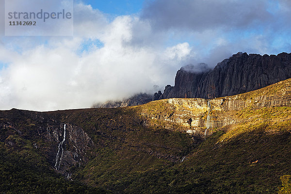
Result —
[[7, 148], [0, 142], [1, 194], [105, 194], [103, 189], [70, 181], [57, 174], [47, 160], [32, 147], [32, 143], [19, 137], [16, 146]]

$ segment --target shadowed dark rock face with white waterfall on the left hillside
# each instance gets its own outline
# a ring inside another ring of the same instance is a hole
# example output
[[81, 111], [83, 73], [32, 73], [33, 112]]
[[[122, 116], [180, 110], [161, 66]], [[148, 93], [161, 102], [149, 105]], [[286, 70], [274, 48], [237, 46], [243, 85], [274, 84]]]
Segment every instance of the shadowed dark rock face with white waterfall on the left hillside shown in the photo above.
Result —
[[49, 164], [66, 178], [72, 175], [71, 167], [88, 161], [86, 152], [94, 147], [83, 129], [61, 123], [47, 113], [12, 109], [1, 112], [0, 118], [1, 142], [19, 149], [23, 146], [19, 138], [30, 141], [33, 148], [43, 153]]

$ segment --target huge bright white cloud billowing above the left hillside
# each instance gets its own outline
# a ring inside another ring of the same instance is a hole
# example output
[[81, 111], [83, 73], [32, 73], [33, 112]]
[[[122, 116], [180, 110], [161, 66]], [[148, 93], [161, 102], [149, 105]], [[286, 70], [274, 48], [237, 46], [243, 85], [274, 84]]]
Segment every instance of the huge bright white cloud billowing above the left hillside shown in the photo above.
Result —
[[[92, 11], [90, 6], [80, 6]], [[100, 15], [98, 11], [91, 14], [92, 20]], [[83, 25], [76, 22], [75, 29], [80, 34], [72, 38], [54, 37], [46, 44], [22, 49], [14, 57], [9, 53], [9, 68], [0, 75], [0, 109], [86, 108], [94, 102], [151, 91], [155, 84], [172, 82], [180, 62], [191, 50], [188, 43], [161, 50], [131, 45], [134, 25], [143, 25], [131, 16], [118, 16], [103, 23], [101, 30], [89, 20], [86, 25], [96, 32], [94, 35], [86, 31], [82, 34]], [[99, 39], [103, 47], [80, 56], [77, 48], [87, 38]], [[3, 60], [5, 56], [0, 55]], [[171, 77], [161, 76], [169, 72]]]

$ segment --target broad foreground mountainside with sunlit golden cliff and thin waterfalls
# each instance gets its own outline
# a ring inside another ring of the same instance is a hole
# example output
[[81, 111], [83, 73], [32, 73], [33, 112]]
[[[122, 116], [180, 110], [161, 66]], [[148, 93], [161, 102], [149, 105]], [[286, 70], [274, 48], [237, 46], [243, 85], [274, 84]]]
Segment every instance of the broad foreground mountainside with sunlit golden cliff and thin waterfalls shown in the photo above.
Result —
[[0, 111], [3, 193], [274, 194], [291, 174], [291, 79], [118, 109]]

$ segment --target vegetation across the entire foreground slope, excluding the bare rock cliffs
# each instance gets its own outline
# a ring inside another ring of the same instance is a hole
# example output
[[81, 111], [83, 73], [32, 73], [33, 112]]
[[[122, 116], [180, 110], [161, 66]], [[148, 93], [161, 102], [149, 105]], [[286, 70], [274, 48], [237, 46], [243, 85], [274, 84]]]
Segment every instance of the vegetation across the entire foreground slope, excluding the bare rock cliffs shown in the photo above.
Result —
[[89, 162], [72, 168], [74, 181], [57, 174], [32, 146], [45, 144], [35, 133], [43, 124], [6, 114], [5, 122], [23, 122], [18, 122], [21, 135], [1, 130], [0, 188], [6, 193], [274, 194], [280, 177], [291, 174], [289, 112], [290, 107], [234, 112], [251, 119], [218, 130], [198, 146], [185, 133], [144, 126], [134, 109], [46, 113], [58, 123], [80, 126], [95, 143], [87, 152]]

